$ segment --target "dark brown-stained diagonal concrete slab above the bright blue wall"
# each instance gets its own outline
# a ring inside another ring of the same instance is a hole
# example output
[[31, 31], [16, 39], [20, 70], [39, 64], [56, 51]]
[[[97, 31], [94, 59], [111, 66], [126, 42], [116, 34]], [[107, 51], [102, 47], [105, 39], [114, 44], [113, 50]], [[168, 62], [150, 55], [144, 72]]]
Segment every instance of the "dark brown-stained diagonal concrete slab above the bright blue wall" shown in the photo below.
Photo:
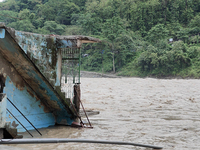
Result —
[[[14, 80], [11, 79], [11, 82], [16, 84], [16, 88], [18, 88], [20, 91], [24, 91], [24, 89], [26, 90], [26, 83], [28, 87], [34, 91], [40, 101], [42, 101], [42, 103], [49, 109], [49, 111], [54, 113], [54, 116], [57, 118], [57, 123], [59, 123], [62, 119], [66, 119], [66, 122], [71, 124], [73, 121], [71, 119], [73, 118], [73, 113], [69, 110], [69, 103], [67, 103], [65, 99], [54, 90], [48, 80], [43, 76], [43, 74], [41, 74], [40, 70], [24, 53], [10, 33], [7, 32], [5, 28], [3, 29], [5, 30], [5, 36], [4, 38], [0, 39], [0, 53], [1, 56], [10, 64], [10, 71], [4, 72], [3, 70], [5, 66], [2, 66], [2, 72], [5, 74], [9, 72], [11, 73], [12, 70], [16, 70], [16, 72], [24, 81], [18, 82], [14, 81], [16, 80], [14, 78]], [[11, 76], [15, 76], [14, 72], [11, 74], [12, 75], [9, 75], [10, 78]], [[60, 116], [62, 116], [62, 119]]]

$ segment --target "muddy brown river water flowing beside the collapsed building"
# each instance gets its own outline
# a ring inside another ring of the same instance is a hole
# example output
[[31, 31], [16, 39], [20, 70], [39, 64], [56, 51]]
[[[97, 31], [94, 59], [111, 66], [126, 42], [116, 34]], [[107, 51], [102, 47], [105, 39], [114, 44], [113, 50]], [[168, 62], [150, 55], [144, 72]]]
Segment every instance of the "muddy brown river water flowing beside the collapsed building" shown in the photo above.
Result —
[[[89, 116], [94, 128], [50, 127], [40, 129], [42, 137], [32, 131], [35, 138], [127, 141], [165, 150], [200, 149], [200, 80], [82, 78], [81, 90], [85, 109], [100, 112]], [[31, 138], [27, 133], [24, 137]], [[12, 146], [12, 150], [146, 149], [81, 143]]]

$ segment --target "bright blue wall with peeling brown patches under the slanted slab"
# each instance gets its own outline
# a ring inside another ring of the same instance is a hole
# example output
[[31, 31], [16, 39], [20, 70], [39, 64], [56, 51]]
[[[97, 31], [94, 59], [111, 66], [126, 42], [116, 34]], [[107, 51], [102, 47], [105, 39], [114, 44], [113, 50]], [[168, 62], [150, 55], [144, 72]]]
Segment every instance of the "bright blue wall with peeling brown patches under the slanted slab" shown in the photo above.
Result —
[[[4, 92], [7, 97], [21, 110], [21, 112], [31, 121], [37, 128], [48, 127], [55, 124], [55, 118], [49, 108], [40, 100], [36, 92], [25, 82], [17, 70], [10, 65], [6, 59], [0, 55], [0, 74], [5, 76]], [[7, 100], [6, 100], [7, 101]], [[7, 101], [7, 107], [27, 129], [33, 129], [32, 126], [24, 119], [23, 116]], [[39, 115], [37, 115], [39, 114]], [[44, 119], [45, 118], [45, 119]], [[25, 131], [22, 126], [9, 114], [6, 115], [6, 121], [11, 122], [11, 128], [17, 128], [18, 131]], [[18, 126], [13, 126], [13, 122]]]

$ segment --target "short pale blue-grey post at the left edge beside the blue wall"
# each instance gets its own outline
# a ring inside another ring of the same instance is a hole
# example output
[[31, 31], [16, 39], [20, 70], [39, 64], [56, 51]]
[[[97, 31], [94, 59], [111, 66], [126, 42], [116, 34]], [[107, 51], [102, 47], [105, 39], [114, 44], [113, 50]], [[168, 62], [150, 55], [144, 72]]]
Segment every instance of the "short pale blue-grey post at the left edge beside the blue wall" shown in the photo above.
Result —
[[7, 96], [4, 93], [0, 93], [0, 139], [3, 138], [3, 130], [6, 124], [6, 108]]

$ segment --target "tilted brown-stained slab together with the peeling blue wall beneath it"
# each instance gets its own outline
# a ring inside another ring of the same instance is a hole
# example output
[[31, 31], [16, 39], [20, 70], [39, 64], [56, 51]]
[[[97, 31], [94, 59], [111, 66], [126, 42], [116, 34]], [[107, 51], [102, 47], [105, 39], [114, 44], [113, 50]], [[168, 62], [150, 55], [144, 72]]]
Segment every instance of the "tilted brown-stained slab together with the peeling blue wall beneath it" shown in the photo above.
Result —
[[[8, 98], [36, 128], [48, 127], [61, 120], [70, 125], [73, 113], [68, 107], [69, 103], [54, 90], [9, 32], [5, 28], [1, 30], [5, 31], [5, 35], [0, 38], [0, 74], [6, 79], [4, 92]], [[28, 130], [33, 129], [11, 104], [7, 108]], [[8, 113], [6, 121], [14, 125], [16, 120]], [[18, 122], [16, 124], [18, 126], [14, 128], [24, 131]]]

